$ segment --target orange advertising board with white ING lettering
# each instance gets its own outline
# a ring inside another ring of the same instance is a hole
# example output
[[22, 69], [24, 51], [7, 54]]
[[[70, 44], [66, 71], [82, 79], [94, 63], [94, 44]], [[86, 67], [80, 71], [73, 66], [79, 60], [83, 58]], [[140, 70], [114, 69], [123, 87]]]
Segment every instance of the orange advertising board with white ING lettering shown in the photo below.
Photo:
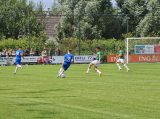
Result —
[[[117, 55], [108, 55], [107, 62], [116, 62], [118, 60]], [[160, 55], [129, 55], [129, 62], [160, 62]]]

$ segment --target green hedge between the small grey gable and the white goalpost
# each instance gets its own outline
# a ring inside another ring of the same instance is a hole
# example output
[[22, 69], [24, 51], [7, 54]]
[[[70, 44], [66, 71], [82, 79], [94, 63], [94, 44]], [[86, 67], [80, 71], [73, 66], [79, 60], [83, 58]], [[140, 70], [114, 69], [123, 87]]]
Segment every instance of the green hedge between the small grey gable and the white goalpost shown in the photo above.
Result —
[[[80, 51], [81, 55], [92, 55], [96, 52], [95, 48], [101, 47], [101, 52], [104, 55], [115, 55], [118, 53], [118, 46], [125, 50], [125, 42], [116, 39], [94, 39], [94, 40], [81, 40]], [[61, 54], [67, 53], [68, 49], [72, 50], [72, 54], [79, 54], [79, 40], [77, 38], [63, 38], [58, 47], [62, 51]]]

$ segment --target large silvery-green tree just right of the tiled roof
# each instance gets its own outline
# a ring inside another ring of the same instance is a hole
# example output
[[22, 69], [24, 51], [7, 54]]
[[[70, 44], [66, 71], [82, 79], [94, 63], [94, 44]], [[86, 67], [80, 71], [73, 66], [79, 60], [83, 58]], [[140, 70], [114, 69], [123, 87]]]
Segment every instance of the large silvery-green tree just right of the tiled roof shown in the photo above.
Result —
[[55, 26], [55, 36], [59, 40], [64, 37], [78, 37], [79, 30], [81, 39], [107, 38], [108, 31], [114, 29], [111, 26], [112, 20], [101, 15], [114, 12], [110, 0], [59, 0], [58, 3], [62, 15], [66, 15]]

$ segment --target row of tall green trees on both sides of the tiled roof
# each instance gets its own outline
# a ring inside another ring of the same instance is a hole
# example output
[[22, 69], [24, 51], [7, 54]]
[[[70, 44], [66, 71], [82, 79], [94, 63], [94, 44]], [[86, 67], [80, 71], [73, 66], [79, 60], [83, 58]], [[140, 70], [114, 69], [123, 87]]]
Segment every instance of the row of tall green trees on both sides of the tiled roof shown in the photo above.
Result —
[[[39, 37], [46, 29], [47, 16], [44, 4], [28, 0], [0, 0], [0, 40], [28, 37], [34, 32]], [[54, 0], [53, 15], [63, 15], [55, 25], [53, 34], [57, 41], [63, 38], [81, 40], [124, 39], [159, 36], [159, 0]], [[34, 35], [35, 35], [34, 34]]]

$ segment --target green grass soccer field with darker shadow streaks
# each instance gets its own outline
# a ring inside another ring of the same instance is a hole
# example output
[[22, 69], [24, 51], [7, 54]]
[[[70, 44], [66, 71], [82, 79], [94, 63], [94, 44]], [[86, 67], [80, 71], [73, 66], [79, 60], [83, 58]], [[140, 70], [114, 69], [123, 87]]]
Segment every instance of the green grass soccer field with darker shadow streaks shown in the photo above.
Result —
[[0, 67], [0, 119], [159, 119], [160, 64]]

